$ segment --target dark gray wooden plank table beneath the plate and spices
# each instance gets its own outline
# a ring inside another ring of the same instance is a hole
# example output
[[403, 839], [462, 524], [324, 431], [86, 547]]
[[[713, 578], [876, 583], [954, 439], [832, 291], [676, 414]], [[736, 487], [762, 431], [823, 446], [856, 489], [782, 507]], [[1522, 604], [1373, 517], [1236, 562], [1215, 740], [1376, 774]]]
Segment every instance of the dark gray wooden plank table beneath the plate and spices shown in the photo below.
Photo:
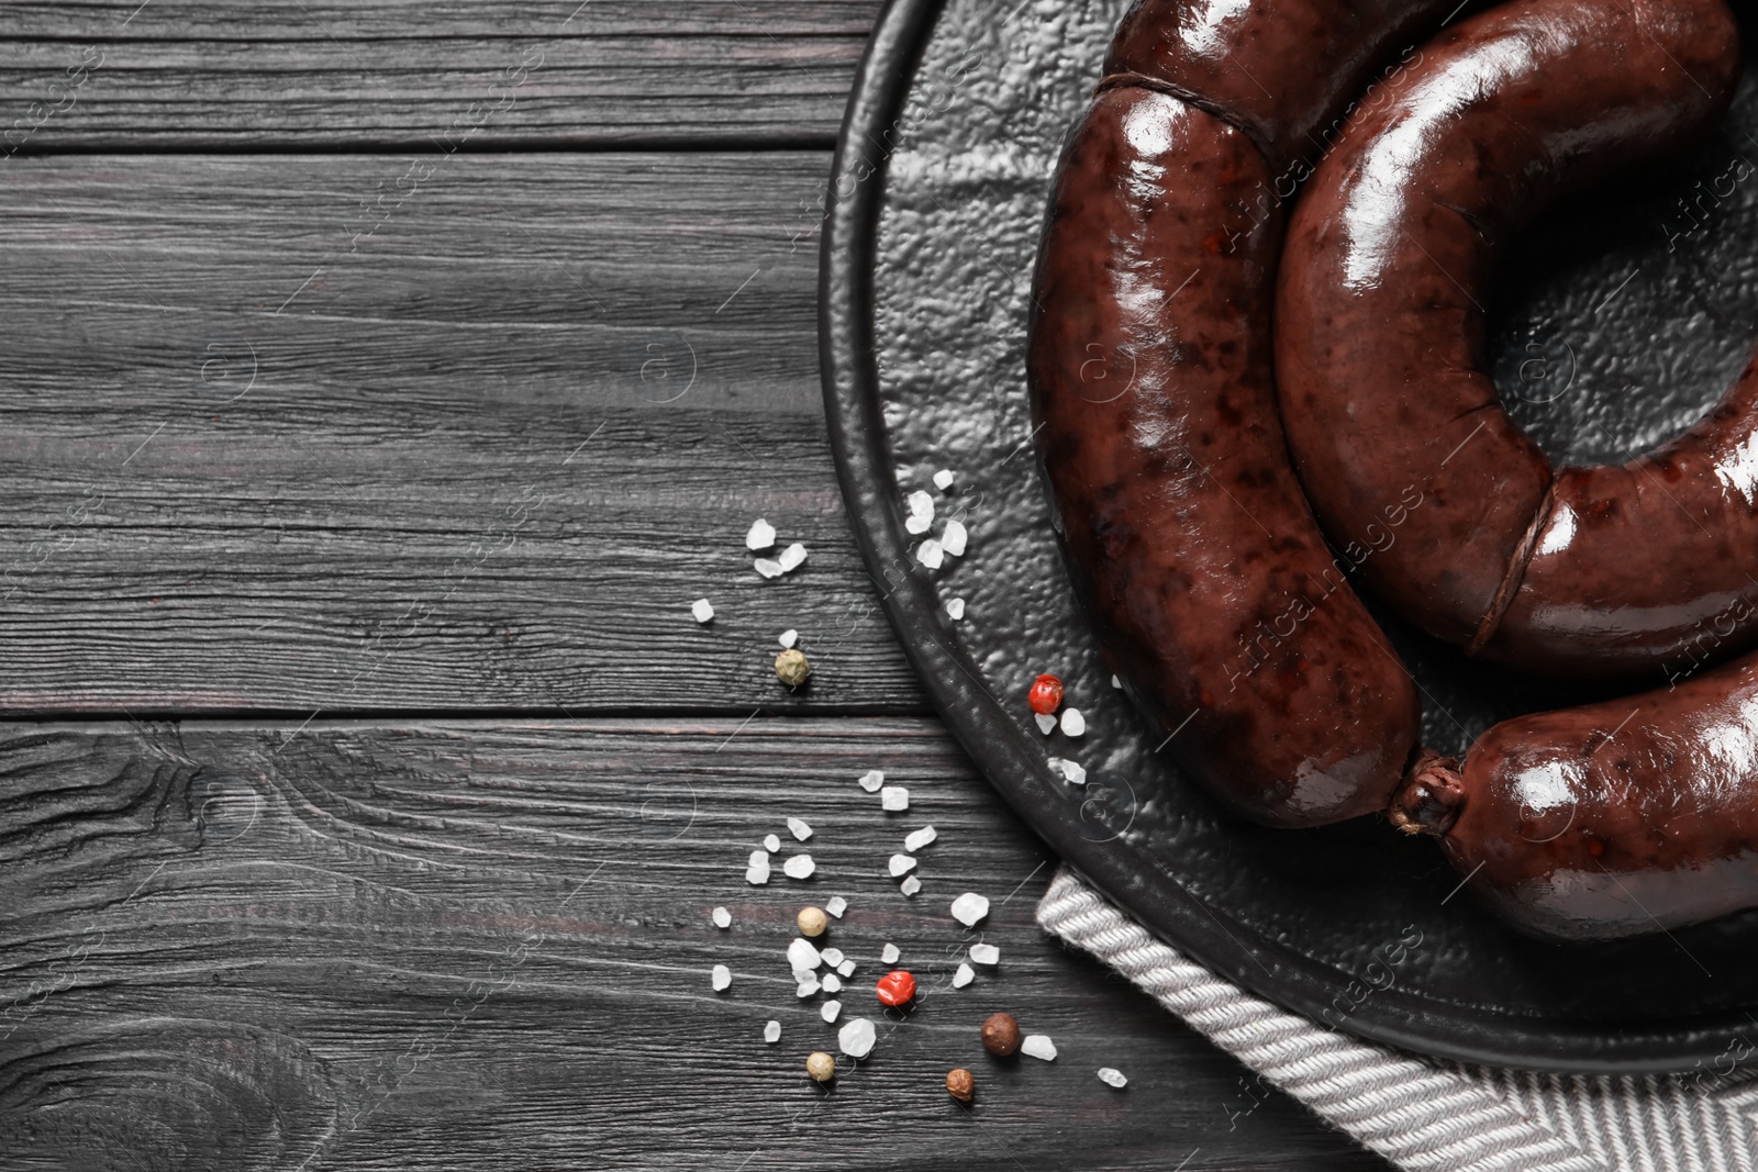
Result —
[[[814, 306], [875, 12], [0, 4], [0, 1168], [1385, 1167], [1034, 928], [874, 606]], [[832, 894], [846, 1016], [884, 942], [928, 995], [825, 1093]]]

